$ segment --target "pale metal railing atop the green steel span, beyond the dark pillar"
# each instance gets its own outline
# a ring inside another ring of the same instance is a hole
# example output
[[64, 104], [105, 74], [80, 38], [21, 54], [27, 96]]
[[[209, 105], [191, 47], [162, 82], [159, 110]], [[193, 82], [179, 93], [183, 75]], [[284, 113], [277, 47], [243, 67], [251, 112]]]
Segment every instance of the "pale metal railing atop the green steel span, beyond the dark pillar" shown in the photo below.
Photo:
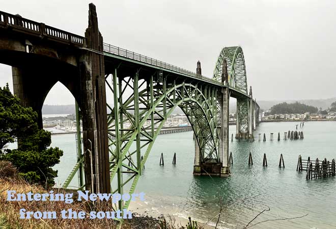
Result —
[[115, 54], [115, 55], [126, 57], [132, 60], [137, 60], [137, 61], [144, 62], [147, 64], [155, 65], [157, 67], [161, 67], [164, 69], [169, 69], [169, 70], [176, 71], [182, 74], [190, 75], [191, 77], [202, 79], [204, 81], [218, 84], [218, 81], [212, 80], [208, 77], [204, 77], [203, 75], [197, 74], [195, 72], [192, 72], [192, 71], [177, 67], [175, 65], [168, 64], [163, 61], [159, 61], [159, 60], [156, 60], [156, 59], [153, 59], [153, 58], [150, 58], [150, 57], [138, 54], [138, 53], [134, 53], [127, 49], [120, 48], [120, 47], [117, 47], [111, 44], [104, 43], [103, 49], [104, 49], [104, 52], [106, 53]]

